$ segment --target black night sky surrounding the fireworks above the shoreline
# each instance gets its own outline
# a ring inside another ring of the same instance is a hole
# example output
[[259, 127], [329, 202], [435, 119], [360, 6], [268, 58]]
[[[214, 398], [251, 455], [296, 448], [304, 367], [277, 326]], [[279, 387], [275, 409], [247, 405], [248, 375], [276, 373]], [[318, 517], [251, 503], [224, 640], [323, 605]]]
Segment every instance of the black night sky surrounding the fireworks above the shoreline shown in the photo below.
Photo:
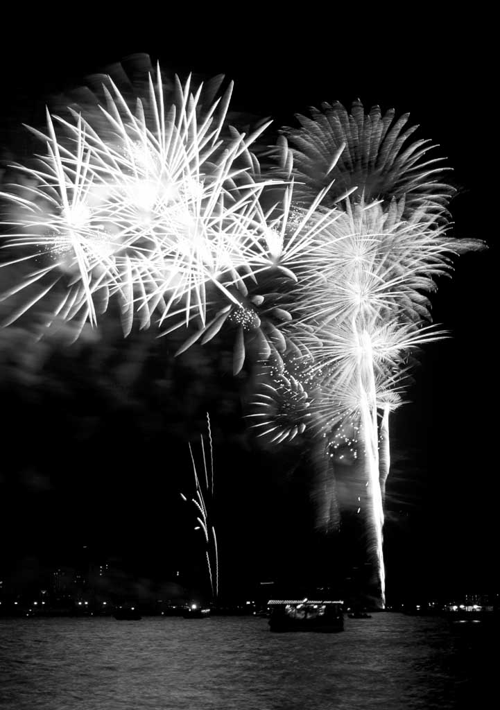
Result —
[[[21, 123], [43, 124], [45, 100], [133, 53], [181, 77], [224, 73], [235, 82], [232, 108], [271, 116], [276, 128], [322, 101], [409, 111], [418, 137], [439, 143], [435, 154], [453, 168], [455, 235], [485, 239], [489, 251], [462, 256], [453, 278], [440, 279], [433, 315], [452, 338], [425, 347], [411, 403], [393, 417], [387, 591], [494, 591], [497, 256], [487, 175], [495, 126], [489, 43], [477, 45], [487, 23], [415, 14], [358, 26], [361, 9], [308, 21], [251, 9], [248, 20], [241, 11], [233, 21], [139, 12], [114, 21], [64, 16], [58, 28], [43, 14], [4, 25], [2, 165], [22, 155]], [[318, 569], [330, 579], [336, 569], [345, 574], [359, 555], [353, 532], [312, 534], [307, 461], [298, 447], [270, 450], [245, 430], [245, 374], [235, 380], [229, 355], [215, 347], [173, 362], [173, 346], [154, 335], [124, 343], [108, 324], [98, 348], [84, 342], [30, 359], [21, 335], [1, 333], [4, 575], [28, 579], [75, 564], [84, 545], [144, 578], [202, 574], [179, 492], [192, 492], [188, 441], [206, 431], [207, 411], [227, 589]]]

